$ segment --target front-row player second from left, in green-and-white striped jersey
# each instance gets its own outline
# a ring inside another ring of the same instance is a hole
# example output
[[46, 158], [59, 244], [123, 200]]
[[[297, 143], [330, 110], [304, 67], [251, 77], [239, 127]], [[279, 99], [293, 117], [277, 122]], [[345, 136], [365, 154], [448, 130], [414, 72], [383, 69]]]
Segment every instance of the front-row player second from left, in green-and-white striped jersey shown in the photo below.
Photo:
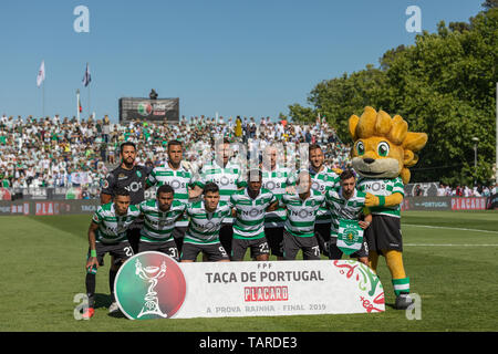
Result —
[[144, 200], [138, 207], [145, 221], [138, 251], [158, 251], [179, 261], [173, 233], [175, 222], [181, 218], [187, 205], [175, 199], [172, 186], [163, 185], [157, 189], [155, 199]]

